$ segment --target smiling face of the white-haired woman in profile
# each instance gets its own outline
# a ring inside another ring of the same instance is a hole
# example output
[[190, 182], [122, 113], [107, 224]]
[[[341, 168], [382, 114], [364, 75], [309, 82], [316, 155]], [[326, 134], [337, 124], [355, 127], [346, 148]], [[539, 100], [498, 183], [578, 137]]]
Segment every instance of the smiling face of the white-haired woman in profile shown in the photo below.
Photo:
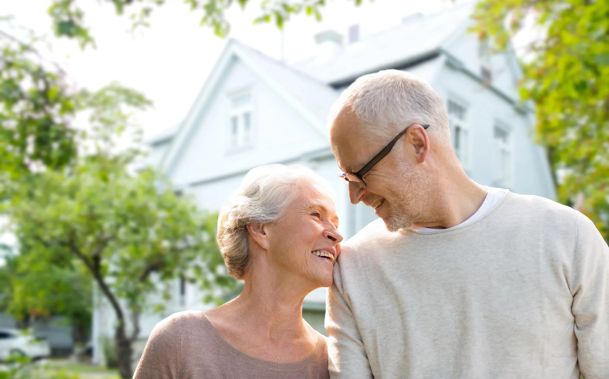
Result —
[[302, 279], [312, 289], [332, 285], [332, 268], [343, 237], [331, 193], [302, 179], [298, 195], [284, 218], [269, 225], [269, 256], [287, 275]]

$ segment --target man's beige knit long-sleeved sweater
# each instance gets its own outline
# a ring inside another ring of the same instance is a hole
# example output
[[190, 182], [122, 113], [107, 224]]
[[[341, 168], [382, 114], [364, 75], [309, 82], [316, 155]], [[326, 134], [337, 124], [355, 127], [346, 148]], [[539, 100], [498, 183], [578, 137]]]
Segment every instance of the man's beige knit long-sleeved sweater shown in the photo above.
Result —
[[609, 378], [609, 248], [569, 207], [507, 193], [462, 228], [343, 245], [331, 378]]

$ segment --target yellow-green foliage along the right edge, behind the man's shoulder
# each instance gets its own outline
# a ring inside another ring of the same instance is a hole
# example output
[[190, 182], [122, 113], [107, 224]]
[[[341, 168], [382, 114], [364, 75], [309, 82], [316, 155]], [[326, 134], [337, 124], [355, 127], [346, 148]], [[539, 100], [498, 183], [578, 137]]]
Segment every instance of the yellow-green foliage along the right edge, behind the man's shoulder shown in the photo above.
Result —
[[[560, 178], [560, 201], [609, 240], [609, 2], [483, 0], [475, 29], [497, 47], [528, 30], [521, 97], [536, 106], [538, 141]], [[527, 21], [533, 19], [530, 26]]]

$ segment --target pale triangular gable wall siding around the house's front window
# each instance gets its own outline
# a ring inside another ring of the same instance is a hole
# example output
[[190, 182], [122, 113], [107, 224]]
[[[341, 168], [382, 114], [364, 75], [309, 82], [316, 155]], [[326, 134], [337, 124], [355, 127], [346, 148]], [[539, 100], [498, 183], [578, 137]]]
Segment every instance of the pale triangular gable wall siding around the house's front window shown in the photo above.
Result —
[[[181, 147], [175, 169], [170, 173], [179, 186], [284, 161], [327, 144], [319, 131], [299, 117], [247, 66], [233, 61], [227, 72], [216, 96], [199, 111], [195, 122], [200, 126], [186, 138], [188, 143]], [[252, 91], [253, 148], [227, 151], [228, 96], [244, 88]]]

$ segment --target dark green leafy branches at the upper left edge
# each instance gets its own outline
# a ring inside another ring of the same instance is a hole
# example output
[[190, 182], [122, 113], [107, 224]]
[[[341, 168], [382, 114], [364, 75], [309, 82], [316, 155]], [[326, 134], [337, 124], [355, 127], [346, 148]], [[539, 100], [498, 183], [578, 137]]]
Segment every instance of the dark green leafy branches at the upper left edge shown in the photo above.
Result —
[[[7, 20], [2, 20], [7, 21]], [[0, 30], [0, 172], [63, 167], [76, 155], [74, 89], [33, 44]]]

